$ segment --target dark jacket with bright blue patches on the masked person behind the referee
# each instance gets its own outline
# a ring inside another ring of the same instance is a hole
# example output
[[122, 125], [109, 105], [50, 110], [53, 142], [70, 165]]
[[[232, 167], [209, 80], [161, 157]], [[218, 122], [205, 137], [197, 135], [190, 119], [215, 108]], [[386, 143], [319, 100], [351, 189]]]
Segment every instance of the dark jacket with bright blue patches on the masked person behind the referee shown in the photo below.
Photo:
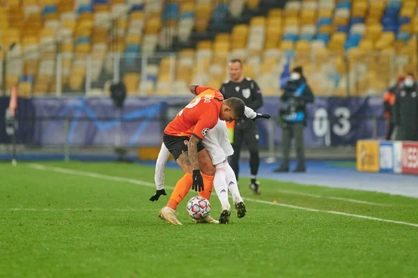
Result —
[[281, 95], [279, 118], [285, 123], [303, 122], [306, 125], [307, 103], [314, 102], [314, 94], [302, 75], [298, 80], [288, 80]]

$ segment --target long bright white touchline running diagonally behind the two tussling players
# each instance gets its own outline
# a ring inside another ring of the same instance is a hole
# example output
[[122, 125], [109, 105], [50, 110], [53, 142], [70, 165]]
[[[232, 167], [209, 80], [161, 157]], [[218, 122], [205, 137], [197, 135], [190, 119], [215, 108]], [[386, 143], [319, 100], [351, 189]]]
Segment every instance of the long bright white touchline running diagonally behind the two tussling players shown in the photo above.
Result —
[[[102, 175], [100, 173], [91, 173], [91, 172], [87, 172], [87, 171], [76, 171], [76, 170], [64, 169], [64, 168], [59, 168], [59, 167], [47, 167], [47, 166], [40, 165], [40, 164], [28, 164], [28, 166], [33, 168], [33, 169], [38, 169], [38, 170], [42, 170], [42, 171], [53, 171], [53, 172], [57, 172], [57, 173], [68, 173], [68, 174], [77, 175], [77, 176], [87, 176], [87, 177], [91, 177], [91, 178], [102, 178], [104, 180], [115, 180], [115, 181], [121, 181], [121, 182], [125, 182], [125, 183], [134, 183], [136, 185], [155, 187], [155, 185], [153, 183], [144, 182], [142, 180], [134, 180], [132, 178], [121, 178], [121, 177], [118, 177], [118, 176], [108, 176], [108, 175]], [[173, 187], [169, 187], [169, 186], [166, 186], [166, 188], [173, 189]], [[348, 216], [348, 217], [356, 217], [356, 218], [370, 219], [370, 220], [375, 220], [375, 221], [380, 221], [380, 222], [389, 222], [389, 223], [403, 224], [403, 225], [418, 227], [418, 224], [415, 224], [415, 223], [408, 223], [408, 222], [401, 222], [401, 221], [395, 221], [395, 220], [390, 220], [390, 219], [369, 217], [369, 216], [365, 216], [365, 215], [353, 215], [353, 214], [350, 214], [350, 213], [341, 213], [339, 211], [332, 211], [332, 210], [318, 210], [316, 208], [305, 208], [305, 207], [301, 207], [301, 206], [288, 205], [286, 203], [273, 203], [273, 202], [270, 202], [270, 201], [263, 201], [263, 200], [251, 199], [251, 198], [243, 198], [243, 199], [245, 199], [247, 201], [253, 201], [253, 202], [256, 202], [256, 203], [265, 203], [265, 204], [273, 205], [273, 206], [294, 208], [296, 210], [308, 210], [308, 211], [313, 211], [313, 212], [318, 212], [318, 213], [330, 213], [330, 214], [334, 214], [334, 215], [344, 215], [344, 216]]]

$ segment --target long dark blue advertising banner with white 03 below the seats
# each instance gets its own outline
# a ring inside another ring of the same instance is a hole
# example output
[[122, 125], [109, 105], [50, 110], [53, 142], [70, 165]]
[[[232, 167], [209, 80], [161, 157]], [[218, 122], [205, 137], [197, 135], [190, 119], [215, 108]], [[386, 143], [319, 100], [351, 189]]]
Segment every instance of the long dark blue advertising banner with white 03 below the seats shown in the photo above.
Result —
[[[159, 146], [162, 130], [190, 98], [143, 98], [125, 100], [121, 123], [111, 98], [31, 98], [19, 99], [17, 119], [17, 144], [62, 145], [68, 131], [72, 145]], [[4, 121], [9, 98], [0, 98], [0, 143], [10, 143]], [[258, 112], [276, 117], [278, 97], [265, 97]], [[167, 119], [164, 118], [167, 115]], [[70, 119], [67, 130], [65, 120]], [[316, 98], [307, 106], [307, 127], [304, 133], [306, 146], [355, 146], [358, 139], [371, 139], [373, 125], [377, 123], [378, 139], [385, 135], [382, 117], [382, 99], [376, 98]], [[261, 147], [268, 145], [268, 121], [258, 121]], [[281, 144], [281, 128], [275, 125], [274, 143]]]

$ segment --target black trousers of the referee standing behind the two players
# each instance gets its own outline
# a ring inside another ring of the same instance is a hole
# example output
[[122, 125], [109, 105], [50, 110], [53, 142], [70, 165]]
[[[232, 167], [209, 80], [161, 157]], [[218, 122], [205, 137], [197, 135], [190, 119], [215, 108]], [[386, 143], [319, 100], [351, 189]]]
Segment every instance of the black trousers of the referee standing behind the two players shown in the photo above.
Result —
[[258, 150], [258, 132], [256, 123], [251, 120], [239, 120], [235, 122], [233, 133], [233, 155], [231, 155], [229, 163], [238, 180], [240, 172], [240, 153], [242, 141], [245, 141], [249, 150], [249, 167], [251, 169], [251, 176], [256, 176], [258, 167], [260, 166], [260, 155]]

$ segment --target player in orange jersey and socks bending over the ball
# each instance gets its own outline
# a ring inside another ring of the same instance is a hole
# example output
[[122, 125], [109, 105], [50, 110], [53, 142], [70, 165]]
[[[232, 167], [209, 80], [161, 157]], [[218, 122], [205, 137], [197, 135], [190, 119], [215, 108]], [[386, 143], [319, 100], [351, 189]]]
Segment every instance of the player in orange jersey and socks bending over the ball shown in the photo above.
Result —
[[[176, 217], [178, 203], [189, 192], [190, 187], [198, 191], [199, 196], [208, 199], [212, 190], [213, 176], [208, 176], [199, 170], [198, 153], [201, 152], [201, 161], [207, 161], [212, 167], [208, 152], [204, 150], [202, 140], [206, 133], [218, 122], [235, 121], [244, 115], [245, 104], [239, 98], [224, 100], [222, 93], [215, 88], [190, 85], [189, 89], [196, 95], [184, 109], [178, 112], [164, 130], [163, 141], [173, 155], [177, 164], [183, 169], [185, 175], [178, 180], [167, 206], [164, 206], [158, 215], [169, 224], [181, 225]], [[206, 187], [206, 188], [205, 188]], [[154, 196], [165, 194], [164, 190], [157, 190]], [[208, 216], [200, 222], [217, 223], [217, 220]]]

